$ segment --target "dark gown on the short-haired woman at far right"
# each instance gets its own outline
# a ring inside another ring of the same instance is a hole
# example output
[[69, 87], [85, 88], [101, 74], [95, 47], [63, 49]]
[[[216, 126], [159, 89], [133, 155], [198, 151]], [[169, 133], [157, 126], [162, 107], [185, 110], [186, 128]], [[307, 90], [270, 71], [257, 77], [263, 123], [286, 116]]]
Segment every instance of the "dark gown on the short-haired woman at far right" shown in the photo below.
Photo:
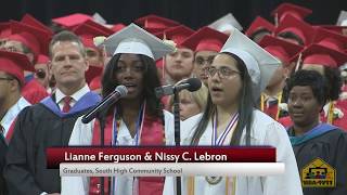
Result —
[[[290, 129], [290, 135], [293, 135], [293, 129]], [[293, 150], [300, 174], [301, 169], [317, 157], [336, 170], [336, 187], [303, 187], [304, 195], [347, 195], [347, 133], [345, 131], [336, 128], [293, 145]]]

